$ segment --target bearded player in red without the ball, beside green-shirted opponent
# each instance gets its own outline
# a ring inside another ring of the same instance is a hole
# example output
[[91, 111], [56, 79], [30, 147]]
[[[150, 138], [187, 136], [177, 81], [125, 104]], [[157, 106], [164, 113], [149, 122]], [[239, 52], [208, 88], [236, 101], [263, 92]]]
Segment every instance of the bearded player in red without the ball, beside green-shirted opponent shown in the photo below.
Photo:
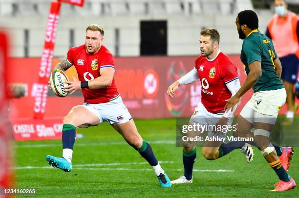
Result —
[[[220, 51], [220, 36], [217, 30], [205, 29], [200, 34], [201, 55], [196, 59], [194, 69], [171, 84], [167, 93], [173, 97], [180, 85], [200, 80], [201, 101], [195, 108], [189, 124], [228, 126], [232, 124], [236, 107], [233, 111], [225, 112], [225, 100], [230, 99], [240, 88], [237, 69], [231, 59]], [[223, 139], [226, 135], [213, 130], [207, 131], [209, 139]], [[192, 183], [192, 169], [196, 158], [196, 147], [192, 143], [194, 142], [186, 141], [183, 144], [184, 175], [171, 181], [172, 184]], [[237, 148], [245, 154], [248, 162], [253, 160], [253, 149], [244, 141], [205, 141], [202, 152], [206, 159], [214, 160]]]

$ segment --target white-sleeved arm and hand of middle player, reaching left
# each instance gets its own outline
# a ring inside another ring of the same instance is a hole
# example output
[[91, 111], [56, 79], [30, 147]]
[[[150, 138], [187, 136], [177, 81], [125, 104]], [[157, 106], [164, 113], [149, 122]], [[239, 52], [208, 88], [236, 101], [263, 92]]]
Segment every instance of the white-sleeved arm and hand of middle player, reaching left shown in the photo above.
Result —
[[167, 94], [173, 98], [173, 96], [175, 95], [175, 90], [177, 90], [177, 88], [180, 86], [180, 85], [184, 85], [184, 84], [190, 84], [192, 82], [195, 82], [199, 79], [199, 76], [198, 76], [198, 72], [197, 70], [195, 69], [195, 67], [190, 71], [188, 72], [185, 76], [183, 76], [182, 78], [176, 80], [175, 82], [173, 82], [167, 89]]

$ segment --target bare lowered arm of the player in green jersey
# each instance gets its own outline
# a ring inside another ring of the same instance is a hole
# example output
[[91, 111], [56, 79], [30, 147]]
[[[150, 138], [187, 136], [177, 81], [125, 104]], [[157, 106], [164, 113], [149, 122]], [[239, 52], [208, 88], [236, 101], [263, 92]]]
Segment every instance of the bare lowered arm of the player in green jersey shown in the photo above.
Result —
[[240, 89], [237, 91], [235, 96], [233, 96], [230, 99], [227, 99], [227, 101], [224, 109], [226, 109], [226, 112], [228, 112], [230, 109], [232, 111], [234, 110], [234, 106], [239, 102], [240, 98], [249, 90], [251, 89], [258, 79], [261, 77], [262, 71], [261, 71], [261, 63], [259, 61], [254, 61], [250, 65], [248, 65], [249, 73], [247, 75], [247, 79], [245, 83], [240, 87]]

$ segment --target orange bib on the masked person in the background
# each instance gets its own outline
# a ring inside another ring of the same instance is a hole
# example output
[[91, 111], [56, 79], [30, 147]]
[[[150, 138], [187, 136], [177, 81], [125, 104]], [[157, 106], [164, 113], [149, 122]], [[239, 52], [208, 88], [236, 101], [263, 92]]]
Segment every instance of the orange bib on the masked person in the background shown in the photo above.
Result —
[[288, 11], [286, 17], [275, 14], [269, 21], [268, 30], [272, 38], [278, 57], [296, 54], [299, 57], [299, 44], [297, 38], [297, 22], [299, 18]]

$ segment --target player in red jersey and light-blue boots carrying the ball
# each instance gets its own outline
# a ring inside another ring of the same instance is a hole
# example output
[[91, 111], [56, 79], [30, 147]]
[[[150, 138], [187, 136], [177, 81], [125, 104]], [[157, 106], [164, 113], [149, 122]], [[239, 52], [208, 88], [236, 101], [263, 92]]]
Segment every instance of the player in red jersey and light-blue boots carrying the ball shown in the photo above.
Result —
[[70, 94], [82, 90], [84, 104], [73, 107], [63, 119], [63, 157], [46, 156], [46, 161], [65, 172], [71, 171], [76, 128], [97, 126], [107, 121], [152, 166], [160, 185], [171, 181], [158, 163], [149, 143], [141, 138], [135, 123], [119, 95], [114, 81], [114, 58], [103, 45], [104, 30], [97, 24], [86, 28], [85, 44], [70, 48], [55, 69], [66, 71], [75, 66], [78, 78], [66, 81]]

